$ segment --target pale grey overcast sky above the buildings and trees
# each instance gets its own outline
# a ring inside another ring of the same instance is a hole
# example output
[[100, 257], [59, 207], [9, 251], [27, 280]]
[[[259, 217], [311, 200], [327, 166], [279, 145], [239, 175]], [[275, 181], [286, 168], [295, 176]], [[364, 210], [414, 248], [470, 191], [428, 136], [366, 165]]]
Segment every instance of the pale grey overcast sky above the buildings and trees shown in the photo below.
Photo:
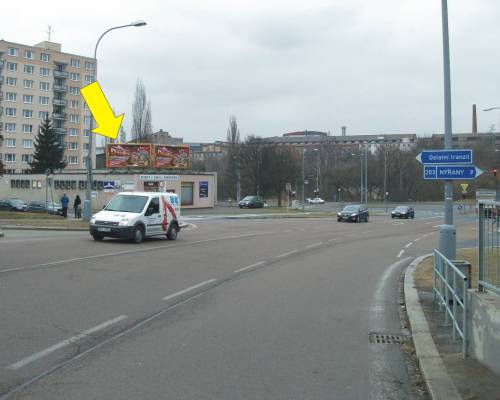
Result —
[[[453, 131], [498, 126], [500, 1], [449, 1]], [[243, 137], [297, 130], [442, 133], [439, 0], [122, 0], [9, 2], [0, 38], [47, 39], [92, 56], [98, 80], [131, 127], [136, 80], [153, 129], [185, 141], [223, 140], [235, 115]], [[4, 10], [5, 11], [5, 10]]]

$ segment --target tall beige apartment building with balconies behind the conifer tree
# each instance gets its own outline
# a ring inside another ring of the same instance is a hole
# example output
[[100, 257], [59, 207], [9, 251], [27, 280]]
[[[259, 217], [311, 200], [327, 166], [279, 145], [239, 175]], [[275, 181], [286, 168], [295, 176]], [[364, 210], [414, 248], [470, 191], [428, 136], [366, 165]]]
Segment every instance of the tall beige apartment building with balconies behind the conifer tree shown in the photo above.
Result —
[[[52, 120], [65, 148], [67, 169], [85, 167], [90, 111], [80, 88], [93, 82], [93, 58], [63, 53], [61, 45], [0, 40], [0, 157], [5, 173], [25, 173], [41, 121]], [[95, 143], [95, 141], [94, 141]]]

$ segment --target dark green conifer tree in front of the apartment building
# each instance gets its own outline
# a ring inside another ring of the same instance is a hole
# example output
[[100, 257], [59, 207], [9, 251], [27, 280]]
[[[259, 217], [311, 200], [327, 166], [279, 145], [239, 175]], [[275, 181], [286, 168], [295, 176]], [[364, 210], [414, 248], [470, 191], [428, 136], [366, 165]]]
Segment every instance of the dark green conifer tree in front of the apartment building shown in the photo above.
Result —
[[61, 146], [59, 136], [47, 118], [38, 129], [33, 161], [30, 163], [31, 171], [45, 173], [50, 170], [53, 173], [56, 169], [63, 169], [66, 167], [63, 157], [64, 149]]

